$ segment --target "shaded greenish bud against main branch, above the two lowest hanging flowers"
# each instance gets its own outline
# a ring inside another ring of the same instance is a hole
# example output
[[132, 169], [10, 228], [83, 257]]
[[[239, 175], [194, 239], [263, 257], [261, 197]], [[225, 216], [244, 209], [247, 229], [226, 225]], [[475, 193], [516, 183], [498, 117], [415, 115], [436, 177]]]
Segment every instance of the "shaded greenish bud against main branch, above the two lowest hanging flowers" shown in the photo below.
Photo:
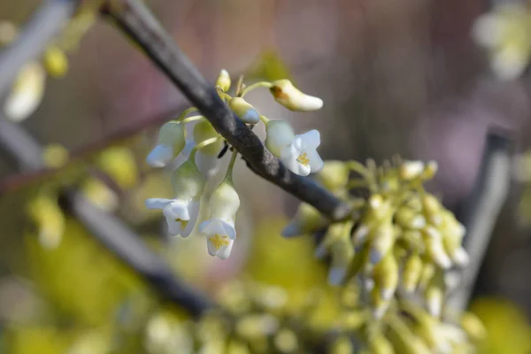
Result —
[[[194, 141], [196, 144], [205, 142], [218, 136], [218, 132], [212, 127], [208, 120], [196, 123], [194, 126]], [[221, 139], [212, 142], [196, 153], [196, 165], [200, 173], [203, 173], [206, 179], [212, 178], [219, 171], [221, 159], [218, 158], [219, 151], [223, 149]]]

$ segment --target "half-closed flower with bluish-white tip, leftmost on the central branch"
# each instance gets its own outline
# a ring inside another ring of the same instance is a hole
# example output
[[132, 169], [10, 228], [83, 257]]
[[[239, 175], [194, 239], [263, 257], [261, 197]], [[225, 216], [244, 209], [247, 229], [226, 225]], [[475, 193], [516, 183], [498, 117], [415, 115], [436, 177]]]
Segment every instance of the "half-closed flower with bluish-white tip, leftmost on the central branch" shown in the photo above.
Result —
[[146, 159], [151, 167], [164, 167], [184, 149], [185, 132], [179, 122], [169, 121], [160, 127], [158, 144]]

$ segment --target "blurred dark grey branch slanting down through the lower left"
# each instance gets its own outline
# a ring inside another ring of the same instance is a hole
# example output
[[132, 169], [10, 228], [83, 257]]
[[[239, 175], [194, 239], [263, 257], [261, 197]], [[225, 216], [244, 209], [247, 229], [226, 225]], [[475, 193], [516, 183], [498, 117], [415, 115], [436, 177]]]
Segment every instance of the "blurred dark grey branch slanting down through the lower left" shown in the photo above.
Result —
[[[42, 147], [19, 126], [0, 115], [0, 146], [25, 169], [42, 168]], [[72, 213], [97, 241], [148, 281], [159, 296], [198, 316], [213, 304], [202, 293], [177, 279], [169, 266], [151, 251], [123, 222], [102, 212], [69, 190], [62, 196], [65, 211]]]

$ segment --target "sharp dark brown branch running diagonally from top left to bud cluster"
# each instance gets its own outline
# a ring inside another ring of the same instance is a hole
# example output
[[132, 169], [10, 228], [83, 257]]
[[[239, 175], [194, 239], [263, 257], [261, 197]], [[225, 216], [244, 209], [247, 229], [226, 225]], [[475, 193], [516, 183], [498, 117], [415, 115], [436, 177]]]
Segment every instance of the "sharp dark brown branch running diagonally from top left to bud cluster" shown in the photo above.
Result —
[[266, 150], [258, 136], [228, 109], [216, 89], [205, 81], [141, 1], [110, 1], [103, 12], [145, 51], [153, 63], [209, 119], [219, 134], [242, 154], [253, 172], [312, 204], [330, 219], [349, 216], [349, 205], [319, 187], [312, 179], [291, 173]]

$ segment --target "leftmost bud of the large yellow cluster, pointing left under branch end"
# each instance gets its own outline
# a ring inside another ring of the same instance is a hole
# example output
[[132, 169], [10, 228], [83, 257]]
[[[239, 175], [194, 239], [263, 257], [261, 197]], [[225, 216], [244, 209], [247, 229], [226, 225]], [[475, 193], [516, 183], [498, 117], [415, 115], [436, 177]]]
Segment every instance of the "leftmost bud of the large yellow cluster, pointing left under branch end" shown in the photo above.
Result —
[[301, 203], [298, 206], [295, 217], [282, 230], [282, 236], [293, 237], [312, 234], [327, 227], [328, 220], [312, 205]]

